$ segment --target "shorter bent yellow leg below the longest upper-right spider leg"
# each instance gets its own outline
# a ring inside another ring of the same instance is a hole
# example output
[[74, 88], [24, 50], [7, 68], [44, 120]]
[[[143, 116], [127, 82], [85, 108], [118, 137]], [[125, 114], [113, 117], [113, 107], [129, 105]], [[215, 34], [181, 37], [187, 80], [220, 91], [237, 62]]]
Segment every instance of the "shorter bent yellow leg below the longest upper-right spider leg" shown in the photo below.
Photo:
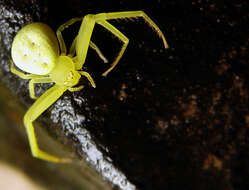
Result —
[[122, 34], [117, 28], [111, 25], [109, 22], [100, 20], [100, 21], [97, 21], [97, 23], [103, 26], [105, 29], [109, 30], [111, 33], [113, 33], [116, 37], [118, 37], [123, 42], [123, 46], [118, 56], [112, 63], [111, 67], [102, 74], [103, 76], [106, 76], [118, 64], [119, 60], [123, 56], [125, 49], [128, 46], [129, 39], [124, 34]]

